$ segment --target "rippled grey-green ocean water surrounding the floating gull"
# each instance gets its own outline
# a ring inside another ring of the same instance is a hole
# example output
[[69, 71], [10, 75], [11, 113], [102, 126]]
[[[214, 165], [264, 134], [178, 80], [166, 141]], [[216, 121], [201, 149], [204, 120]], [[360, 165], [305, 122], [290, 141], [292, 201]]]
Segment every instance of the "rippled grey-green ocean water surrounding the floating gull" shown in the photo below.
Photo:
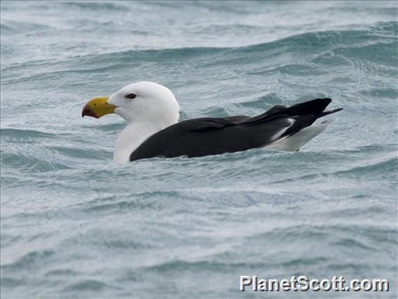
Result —
[[[396, 298], [395, 1], [1, 1], [1, 298]], [[112, 165], [135, 81], [181, 119], [330, 97], [300, 152]], [[245, 292], [266, 279], [390, 291]]]

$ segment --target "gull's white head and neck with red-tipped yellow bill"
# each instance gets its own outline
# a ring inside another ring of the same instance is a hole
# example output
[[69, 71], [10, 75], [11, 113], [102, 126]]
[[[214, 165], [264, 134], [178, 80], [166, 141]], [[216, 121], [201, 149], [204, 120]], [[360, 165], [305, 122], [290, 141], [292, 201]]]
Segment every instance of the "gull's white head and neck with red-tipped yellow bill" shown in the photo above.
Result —
[[177, 123], [179, 105], [169, 88], [142, 81], [121, 88], [109, 98], [90, 100], [82, 115], [99, 118], [109, 113], [120, 115], [127, 123], [114, 151], [114, 164], [125, 164], [147, 138]]

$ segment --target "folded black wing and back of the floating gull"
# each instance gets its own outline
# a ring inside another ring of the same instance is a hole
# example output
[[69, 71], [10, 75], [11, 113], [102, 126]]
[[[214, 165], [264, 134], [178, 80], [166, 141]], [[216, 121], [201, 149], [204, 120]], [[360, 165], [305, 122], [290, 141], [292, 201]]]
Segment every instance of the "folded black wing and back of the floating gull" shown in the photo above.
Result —
[[132, 152], [130, 161], [151, 157], [203, 157], [263, 147], [332, 113], [323, 112], [330, 102], [331, 99], [325, 98], [291, 107], [277, 105], [257, 117], [204, 117], [181, 121], [144, 141]]

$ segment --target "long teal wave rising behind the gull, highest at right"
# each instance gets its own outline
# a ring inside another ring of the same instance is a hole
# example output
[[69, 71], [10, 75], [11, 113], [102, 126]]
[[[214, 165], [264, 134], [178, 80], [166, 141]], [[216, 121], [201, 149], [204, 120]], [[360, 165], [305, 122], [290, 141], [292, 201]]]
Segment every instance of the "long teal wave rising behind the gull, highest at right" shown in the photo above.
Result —
[[[2, 84], [15, 86], [24, 82], [25, 86], [36, 86], [43, 80], [59, 81], [91, 74], [104, 77], [120, 74], [123, 81], [130, 69], [144, 74], [148, 65], [156, 63], [164, 68], [161, 69], [164, 73], [188, 72], [192, 67], [217, 73], [228, 68], [232, 76], [261, 81], [282, 81], [286, 76], [303, 80], [315, 75], [328, 87], [363, 86], [363, 98], [372, 102], [374, 94], [387, 99], [398, 94], [392, 82], [398, 74], [397, 32], [398, 22], [379, 22], [361, 29], [307, 32], [234, 48], [163, 48], [71, 55], [62, 60], [2, 65]], [[380, 84], [372, 86], [369, 74], [373, 80], [380, 78]], [[368, 88], [373, 91], [368, 93]]]

